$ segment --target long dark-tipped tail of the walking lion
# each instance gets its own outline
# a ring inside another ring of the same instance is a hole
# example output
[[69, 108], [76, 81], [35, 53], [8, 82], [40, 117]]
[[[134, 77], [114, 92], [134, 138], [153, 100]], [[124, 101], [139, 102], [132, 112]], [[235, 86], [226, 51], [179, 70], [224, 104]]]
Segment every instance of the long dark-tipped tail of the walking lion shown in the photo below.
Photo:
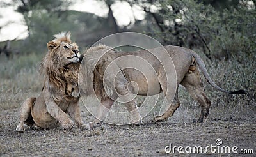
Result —
[[244, 90], [238, 90], [238, 91], [227, 91], [225, 89], [222, 89], [221, 87], [219, 87], [218, 85], [216, 85], [213, 80], [211, 79], [211, 77], [209, 76], [209, 73], [205, 67], [204, 61], [202, 61], [201, 57], [198, 56], [198, 54], [196, 54], [196, 52], [191, 51], [192, 56], [195, 58], [196, 63], [198, 64], [200, 70], [202, 70], [202, 73], [204, 74], [205, 79], [207, 80], [207, 82], [209, 84], [211, 84], [212, 87], [218, 89], [219, 91], [222, 91], [224, 93], [229, 93], [229, 94], [245, 94]]

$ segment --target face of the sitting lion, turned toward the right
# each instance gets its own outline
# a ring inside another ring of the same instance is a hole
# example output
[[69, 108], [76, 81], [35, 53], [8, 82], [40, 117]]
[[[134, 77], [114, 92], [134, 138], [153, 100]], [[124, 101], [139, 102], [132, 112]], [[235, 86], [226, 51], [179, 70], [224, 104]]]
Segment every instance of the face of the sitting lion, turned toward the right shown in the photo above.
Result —
[[56, 42], [53, 40], [47, 43], [47, 47], [50, 50], [51, 57], [64, 65], [79, 62], [80, 52], [76, 43]]

